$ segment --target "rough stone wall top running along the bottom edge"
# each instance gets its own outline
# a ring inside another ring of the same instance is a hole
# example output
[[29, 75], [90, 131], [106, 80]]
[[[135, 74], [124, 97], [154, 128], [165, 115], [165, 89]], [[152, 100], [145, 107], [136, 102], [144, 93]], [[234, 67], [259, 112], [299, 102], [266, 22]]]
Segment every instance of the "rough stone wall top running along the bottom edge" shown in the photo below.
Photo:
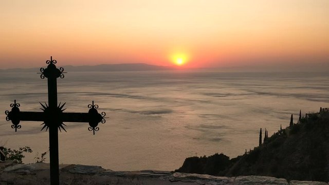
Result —
[[[60, 165], [61, 184], [175, 184], [175, 185], [226, 185], [226, 184], [328, 184], [326, 182], [296, 181], [264, 176], [217, 177], [211, 175], [171, 173], [167, 171], [120, 172], [105, 170], [97, 166]], [[12, 161], [0, 163], [0, 185], [9, 184], [49, 184], [49, 164], [16, 164]]]

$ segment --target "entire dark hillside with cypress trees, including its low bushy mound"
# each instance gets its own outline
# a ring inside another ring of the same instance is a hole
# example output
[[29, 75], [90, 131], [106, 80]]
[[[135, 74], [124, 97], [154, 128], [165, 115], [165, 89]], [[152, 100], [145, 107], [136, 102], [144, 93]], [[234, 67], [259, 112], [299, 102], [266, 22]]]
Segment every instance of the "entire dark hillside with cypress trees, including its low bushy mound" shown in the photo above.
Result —
[[[257, 138], [255, 138], [257, 139]], [[229, 159], [224, 154], [189, 157], [175, 172], [215, 176], [261, 175], [287, 180], [329, 181], [329, 108], [300, 116], [271, 137], [260, 131], [259, 146]], [[233, 146], [232, 146], [233, 147]]]

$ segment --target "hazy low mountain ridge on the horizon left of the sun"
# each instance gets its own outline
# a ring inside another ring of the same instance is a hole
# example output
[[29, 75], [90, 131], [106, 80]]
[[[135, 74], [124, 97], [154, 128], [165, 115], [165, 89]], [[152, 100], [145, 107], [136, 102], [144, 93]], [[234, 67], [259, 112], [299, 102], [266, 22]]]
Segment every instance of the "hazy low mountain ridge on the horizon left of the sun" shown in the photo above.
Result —
[[[95, 66], [82, 65], [82, 66], [60, 66], [65, 71], [148, 71], [148, 70], [173, 70], [176, 69], [173, 66], [157, 66], [143, 63], [135, 64], [101, 64]], [[0, 69], [0, 72], [35, 72], [39, 71], [40, 68], [11, 68], [11, 69]]]

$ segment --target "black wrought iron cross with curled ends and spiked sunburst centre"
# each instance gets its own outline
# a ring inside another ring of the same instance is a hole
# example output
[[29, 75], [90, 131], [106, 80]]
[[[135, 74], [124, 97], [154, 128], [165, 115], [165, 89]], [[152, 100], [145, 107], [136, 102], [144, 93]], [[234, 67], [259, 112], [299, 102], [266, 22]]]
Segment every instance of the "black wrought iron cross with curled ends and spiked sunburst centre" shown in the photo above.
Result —
[[6, 120], [12, 122], [11, 127], [21, 128], [20, 121], [43, 121], [41, 131], [46, 128], [46, 131], [49, 129], [49, 156], [50, 156], [50, 183], [52, 185], [59, 184], [59, 163], [58, 163], [58, 128], [61, 131], [61, 128], [66, 132], [66, 126], [63, 122], [88, 122], [89, 131], [99, 130], [98, 123], [105, 123], [105, 113], [102, 112], [99, 114], [97, 112], [98, 105], [92, 104], [88, 105], [88, 113], [64, 113], [63, 109], [65, 103], [61, 105], [57, 102], [57, 78], [64, 78], [65, 72], [62, 67], [59, 69], [56, 67], [56, 60], [47, 60], [47, 68], [40, 68], [40, 77], [42, 79], [48, 79], [48, 105], [47, 103], [41, 104], [43, 112], [21, 112], [20, 104], [14, 103], [10, 104], [11, 111], [6, 110]]

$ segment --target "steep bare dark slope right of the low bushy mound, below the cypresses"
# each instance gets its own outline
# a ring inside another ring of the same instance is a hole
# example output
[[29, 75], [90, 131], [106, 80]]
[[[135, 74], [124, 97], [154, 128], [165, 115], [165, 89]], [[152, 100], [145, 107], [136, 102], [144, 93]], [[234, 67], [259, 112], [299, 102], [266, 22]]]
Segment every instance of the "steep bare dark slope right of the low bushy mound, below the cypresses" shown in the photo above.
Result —
[[329, 181], [329, 119], [295, 124], [237, 161], [226, 176], [264, 175]]

